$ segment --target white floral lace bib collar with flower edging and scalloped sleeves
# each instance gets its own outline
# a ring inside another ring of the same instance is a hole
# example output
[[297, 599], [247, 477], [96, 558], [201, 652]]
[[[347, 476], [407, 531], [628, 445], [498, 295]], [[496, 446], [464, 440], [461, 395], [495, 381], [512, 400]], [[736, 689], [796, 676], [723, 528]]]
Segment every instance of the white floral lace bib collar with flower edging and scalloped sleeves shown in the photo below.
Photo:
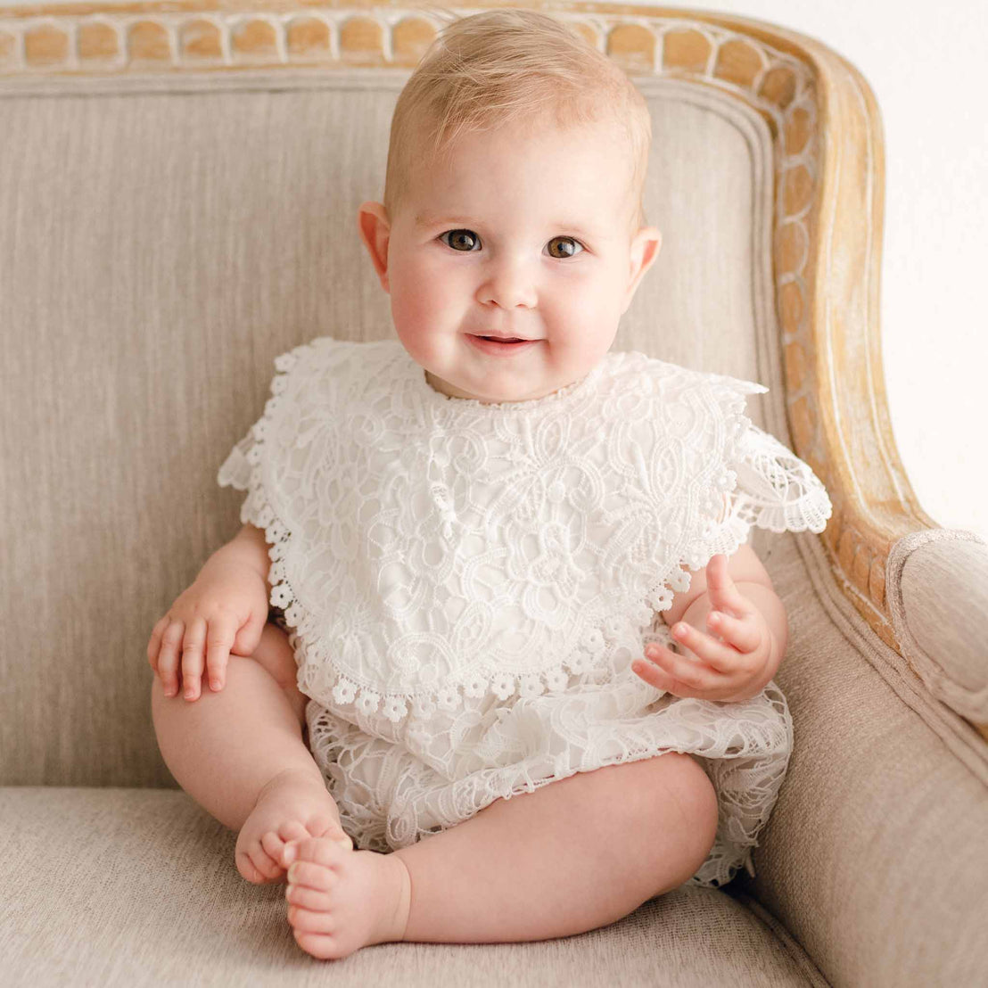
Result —
[[397, 340], [321, 337], [275, 364], [218, 482], [250, 492], [299, 689], [327, 708], [398, 723], [607, 682], [684, 566], [830, 516], [744, 416], [761, 384], [610, 353], [553, 395], [483, 404], [435, 391]]

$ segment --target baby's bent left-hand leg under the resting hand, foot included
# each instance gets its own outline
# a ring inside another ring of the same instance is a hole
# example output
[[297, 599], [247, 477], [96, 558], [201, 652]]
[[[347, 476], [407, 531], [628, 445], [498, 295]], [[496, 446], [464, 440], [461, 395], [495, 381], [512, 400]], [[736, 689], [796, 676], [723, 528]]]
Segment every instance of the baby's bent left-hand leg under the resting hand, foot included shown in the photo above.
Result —
[[293, 707], [290, 691], [267, 668], [284, 663], [277, 653], [287, 643], [285, 632], [269, 624], [255, 657], [231, 655], [224, 688], [194, 702], [165, 697], [158, 677], [151, 688], [165, 763], [206, 812], [240, 832], [237, 869], [258, 883], [284, 878], [277, 862], [288, 840], [352, 843], [302, 740], [304, 706]]

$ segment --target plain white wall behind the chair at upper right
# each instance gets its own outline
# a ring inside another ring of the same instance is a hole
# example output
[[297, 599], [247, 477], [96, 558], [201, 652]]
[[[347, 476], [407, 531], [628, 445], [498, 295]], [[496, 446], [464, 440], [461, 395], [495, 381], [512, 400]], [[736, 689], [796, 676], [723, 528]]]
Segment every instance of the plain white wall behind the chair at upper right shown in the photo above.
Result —
[[703, 9], [823, 41], [874, 90], [885, 130], [881, 338], [895, 440], [927, 513], [988, 540], [988, 7], [709, 0]]

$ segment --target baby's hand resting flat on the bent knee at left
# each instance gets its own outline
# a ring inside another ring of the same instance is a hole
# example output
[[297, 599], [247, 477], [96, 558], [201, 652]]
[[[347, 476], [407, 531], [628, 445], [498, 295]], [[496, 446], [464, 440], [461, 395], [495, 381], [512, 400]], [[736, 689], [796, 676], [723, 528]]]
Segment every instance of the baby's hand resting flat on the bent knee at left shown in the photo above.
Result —
[[210, 559], [151, 631], [147, 660], [165, 696], [178, 693], [181, 678], [185, 699], [199, 700], [204, 667], [209, 689], [222, 690], [230, 652], [252, 655], [267, 620], [268, 588], [257, 570]]

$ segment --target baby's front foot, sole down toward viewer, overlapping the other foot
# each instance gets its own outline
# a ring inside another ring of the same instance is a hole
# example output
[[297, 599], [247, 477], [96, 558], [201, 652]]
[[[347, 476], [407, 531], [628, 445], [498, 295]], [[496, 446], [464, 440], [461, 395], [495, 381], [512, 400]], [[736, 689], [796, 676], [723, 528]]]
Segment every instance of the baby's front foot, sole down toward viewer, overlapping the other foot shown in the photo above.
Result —
[[288, 844], [288, 923], [313, 957], [346, 957], [369, 944], [405, 939], [412, 882], [394, 854], [344, 851], [325, 837]]

